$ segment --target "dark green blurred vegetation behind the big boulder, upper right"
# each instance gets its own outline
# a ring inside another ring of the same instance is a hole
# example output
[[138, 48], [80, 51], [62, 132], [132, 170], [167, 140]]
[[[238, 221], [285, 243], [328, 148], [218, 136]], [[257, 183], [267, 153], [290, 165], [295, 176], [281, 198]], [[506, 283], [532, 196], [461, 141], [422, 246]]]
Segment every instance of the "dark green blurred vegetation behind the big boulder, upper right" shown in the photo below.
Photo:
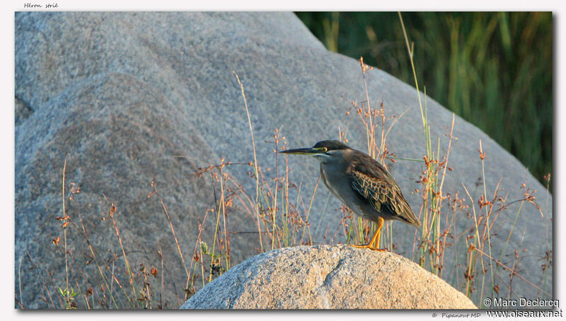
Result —
[[[364, 57], [415, 85], [398, 13], [296, 15], [329, 50]], [[421, 90], [490, 135], [546, 185], [553, 166], [552, 13], [402, 15]]]

